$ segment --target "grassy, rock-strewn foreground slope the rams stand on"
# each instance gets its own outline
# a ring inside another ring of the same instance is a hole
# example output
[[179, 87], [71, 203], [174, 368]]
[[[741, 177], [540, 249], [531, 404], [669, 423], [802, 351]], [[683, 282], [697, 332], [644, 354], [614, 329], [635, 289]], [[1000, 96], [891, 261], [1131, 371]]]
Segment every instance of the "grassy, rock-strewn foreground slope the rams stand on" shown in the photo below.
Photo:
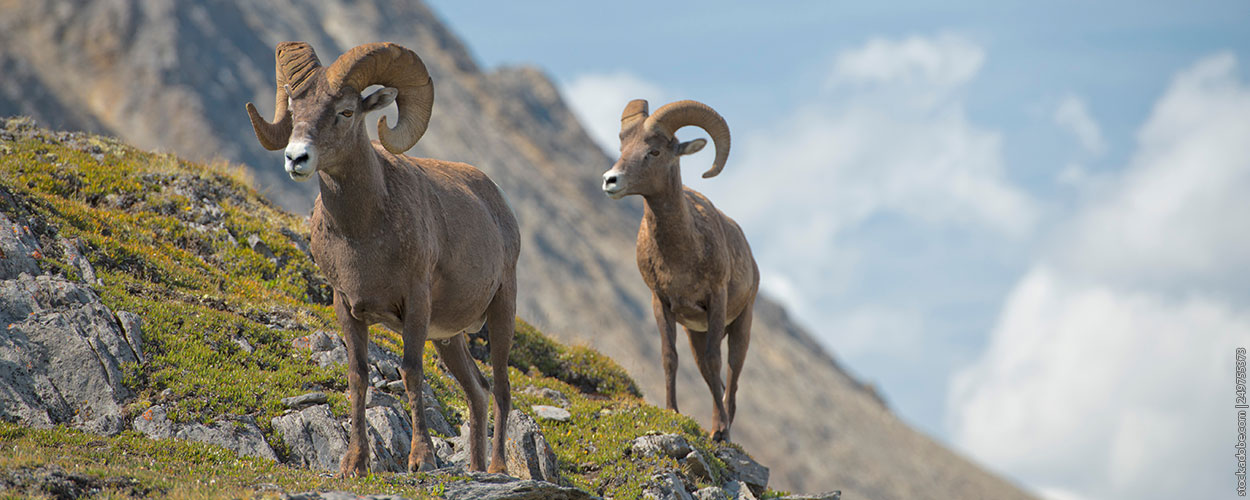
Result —
[[[401, 341], [374, 329], [372, 474], [332, 479], [346, 349], [325, 291], [301, 220], [238, 172], [0, 120], [0, 498], [779, 496], [766, 468], [642, 401], [610, 359], [519, 319], [509, 475], [465, 470], [466, 401], [432, 346], [422, 411], [439, 468], [404, 472]], [[471, 349], [488, 358], [481, 339]]]

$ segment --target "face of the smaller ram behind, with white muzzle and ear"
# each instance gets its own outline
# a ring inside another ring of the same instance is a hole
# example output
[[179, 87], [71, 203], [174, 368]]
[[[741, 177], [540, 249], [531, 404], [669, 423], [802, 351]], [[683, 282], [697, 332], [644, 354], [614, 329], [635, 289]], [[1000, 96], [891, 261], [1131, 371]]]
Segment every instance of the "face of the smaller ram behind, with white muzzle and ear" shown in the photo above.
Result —
[[708, 144], [704, 139], [678, 142], [662, 131], [648, 134], [642, 126], [622, 130], [620, 138], [621, 158], [604, 172], [604, 192], [614, 200], [664, 192], [674, 181], [680, 186], [679, 158], [698, 152]]

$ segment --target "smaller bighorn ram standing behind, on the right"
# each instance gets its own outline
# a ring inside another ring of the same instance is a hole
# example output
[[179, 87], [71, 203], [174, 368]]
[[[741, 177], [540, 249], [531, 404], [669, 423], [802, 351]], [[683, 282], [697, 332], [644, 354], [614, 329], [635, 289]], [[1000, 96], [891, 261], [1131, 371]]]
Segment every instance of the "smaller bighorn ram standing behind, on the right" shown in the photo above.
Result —
[[[738, 378], [751, 341], [751, 311], [760, 271], [741, 228], [716, 210], [706, 196], [681, 184], [680, 156], [702, 149], [706, 140], [678, 142], [686, 125], [708, 131], [716, 160], [704, 178], [720, 174], [729, 158], [729, 125], [702, 102], [668, 104], [648, 116], [636, 99], [621, 112], [621, 158], [604, 174], [612, 199], [641, 195], [638, 269], [651, 289], [651, 309], [660, 328], [665, 404], [678, 410], [675, 322], [690, 336], [699, 371], [715, 402], [712, 438], [729, 440], [736, 410]], [[721, 386], [720, 342], [729, 338], [729, 378]]]

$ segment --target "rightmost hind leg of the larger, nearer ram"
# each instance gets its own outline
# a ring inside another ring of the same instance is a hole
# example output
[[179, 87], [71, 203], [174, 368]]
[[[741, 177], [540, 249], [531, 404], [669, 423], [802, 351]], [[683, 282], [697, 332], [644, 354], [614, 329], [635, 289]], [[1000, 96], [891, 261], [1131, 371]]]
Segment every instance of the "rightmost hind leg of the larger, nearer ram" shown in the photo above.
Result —
[[509, 276], [486, 308], [486, 332], [490, 342], [490, 369], [494, 375], [495, 439], [491, 442], [488, 472], [508, 472], [504, 444], [508, 440], [508, 414], [512, 410], [511, 388], [508, 381], [508, 352], [512, 349], [516, 328], [516, 276]]

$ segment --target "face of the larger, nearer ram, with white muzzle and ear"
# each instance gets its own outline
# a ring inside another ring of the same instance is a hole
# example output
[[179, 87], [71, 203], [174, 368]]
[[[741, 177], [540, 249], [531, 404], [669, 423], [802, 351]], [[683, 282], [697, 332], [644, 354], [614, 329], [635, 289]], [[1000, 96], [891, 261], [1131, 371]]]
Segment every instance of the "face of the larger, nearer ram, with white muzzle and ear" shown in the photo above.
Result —
[[291, 140], [286, 144], [286, 175], [305, 181], [312, 178], [319, 165], [342, 165], [345, 158], [341, 156], [359, 154], [346, 145], [361, 140], [369, 144], [365, 115], [391, 104], [396, 94], [395, 89], [384, 88], [361, 98], [360, 92], [348, 86], [339, 92], [305, 91], [291, 98], [292, 126]]

